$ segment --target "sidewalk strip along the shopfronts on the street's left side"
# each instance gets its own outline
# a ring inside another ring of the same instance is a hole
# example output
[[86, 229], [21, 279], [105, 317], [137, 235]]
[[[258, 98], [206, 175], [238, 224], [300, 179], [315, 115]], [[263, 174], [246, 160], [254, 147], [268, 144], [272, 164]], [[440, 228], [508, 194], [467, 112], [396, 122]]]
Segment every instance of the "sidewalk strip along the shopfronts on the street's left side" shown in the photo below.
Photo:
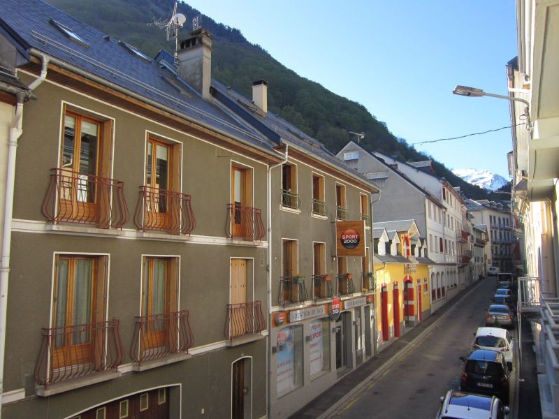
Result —
[[337, 383], [335, 383], [331, 388], [304, 406], [303, 409], [293, 413], [289, 419], [315, 419], [324, 415], [324, 413], [327, 413], [329, 409], [335, 407], [335, 405], [347, 396], [348, 393], [354, 392], [360, 388], [372, 374], [377, 372], [380, 374], [382, 370], [386, 369], [386, 363], [397, 360], [399, 355], [402, 355], [402, 352], [405, 351], [409, 343], [417, 337], [420, 337], [431, 325], [440, 320], [440, 318], [442, 318], [444, 314], [453, 307], [453, 304], [456, 301], [464, 297], [464, 295], [479, 285], [481, 281], [487, 280], [488, 279], [481, 279], [480, 281], [476, 281], [468, 288], [465, 288], [464, 291], [455, 295], [451, 300], [449, 300], [449, 302], [447, 302], [447, 304], [444, 304], [443, 307], [435, 311], [434, 314], [431, 314], [414, 328], [408, 328], [405, 335], [393, 341], [390, 346], [385, 348], [377, 356], [363, 362], [361, 367], [349, 372], [346, 376], [340, 379], [340, 381], [337, 381]]

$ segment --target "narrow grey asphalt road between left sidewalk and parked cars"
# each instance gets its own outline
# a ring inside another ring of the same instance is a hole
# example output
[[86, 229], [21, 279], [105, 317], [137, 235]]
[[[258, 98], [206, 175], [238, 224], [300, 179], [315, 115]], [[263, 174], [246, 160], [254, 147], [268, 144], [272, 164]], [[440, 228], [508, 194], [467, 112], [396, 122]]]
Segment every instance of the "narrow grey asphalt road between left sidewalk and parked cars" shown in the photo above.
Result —
[[[493, 278], [474, 286], [449, 315], [423, 336], [412, 351], [368, 383], [336, 418], [434, 418], [440, 397], [458, 389], [463, 362], [474, 332], [484, 324], [484, 309], [495, 290]], [[406, 339], [406, 337], [402, 337]], [[516, 368], [511, 381], [514, 383]], [[514, 389], [511, 388], [511, 406]]]

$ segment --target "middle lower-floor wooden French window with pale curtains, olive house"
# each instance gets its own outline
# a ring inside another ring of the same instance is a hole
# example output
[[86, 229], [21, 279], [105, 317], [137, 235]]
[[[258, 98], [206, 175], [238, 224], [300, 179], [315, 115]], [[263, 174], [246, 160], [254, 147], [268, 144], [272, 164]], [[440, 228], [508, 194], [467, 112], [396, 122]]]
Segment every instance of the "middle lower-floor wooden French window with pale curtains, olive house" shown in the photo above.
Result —
[[145, 348], [166, 346], [170, 333], [169, 314], [177, 311], [178, 258], [143, 258], [142, 316], [145, 316]]

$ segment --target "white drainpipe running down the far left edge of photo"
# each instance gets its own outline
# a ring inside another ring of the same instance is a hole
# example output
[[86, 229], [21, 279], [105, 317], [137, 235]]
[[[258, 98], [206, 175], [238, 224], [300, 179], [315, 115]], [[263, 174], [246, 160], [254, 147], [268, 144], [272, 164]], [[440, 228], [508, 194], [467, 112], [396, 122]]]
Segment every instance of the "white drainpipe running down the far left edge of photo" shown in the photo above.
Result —
[[[31, 91], [47, 77], [48, 58], [43, 58], [41, 75], [29, 84]], [[17, 140], [23, 133], [23, 102], [29, 94], [18, 92], [16, 94], [17, 105], [13, 124], [10, 127], [8, 137], [8, 164], [6, 168], [6, 202], [4, 205], [4, 222], [2, 236], [2, 255], [0, 265], [0, 417], [3, 396], [4, 357], [6, 355], [6, 312], [8, 309], [8, 276], [10, 274], [10, 244], [12, 239], [12, 215], [13, 215], [13, 192], [15, 183], [15, 154], [17, 151]]]

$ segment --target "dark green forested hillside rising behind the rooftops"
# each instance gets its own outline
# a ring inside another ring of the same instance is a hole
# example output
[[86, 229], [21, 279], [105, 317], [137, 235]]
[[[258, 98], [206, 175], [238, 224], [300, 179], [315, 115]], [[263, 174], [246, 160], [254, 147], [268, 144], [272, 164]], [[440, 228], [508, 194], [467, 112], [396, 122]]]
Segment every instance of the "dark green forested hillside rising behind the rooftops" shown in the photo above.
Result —
[[[174, 0], [47, 1], [152, 57], [161, 48], [173, 51], [174, 43], [166, 42], [164, 32], [148, 23], [154, 17], [170, 18]], [[182, 31], [184, 36], [191, 27], [192, 17], [201, 13], [186, 3], [180, 3], [178, 11], [187, 15], [187, 24]], [[219, 24], [205, 15], [201, 15], [199, 22], [213, 34], [212, 77], [248, 97], [252, 95], [252, 81], [268, 80], [269, 110], [317, 138], [332, 152], [338, 152], [351, 139], [348, 131], [363, 131], [365, 138], [361, 146], [369, 151], [378, 150], [403, 161], [429, 158], [407, 145], [405, 140], [396, 138], [386, 124], [375, 119], [363, 105], [300, 77], [262, 47], [249, 43], [238, 29]], [[377, 111], [382, 112], [380, 109]], [[470, 198], [491, 199], [487, 191], [467, 184], [444, 164], [437, 161], [433, 163], [436, 175], [445, 177], [454, 186], [460, 186]]]

